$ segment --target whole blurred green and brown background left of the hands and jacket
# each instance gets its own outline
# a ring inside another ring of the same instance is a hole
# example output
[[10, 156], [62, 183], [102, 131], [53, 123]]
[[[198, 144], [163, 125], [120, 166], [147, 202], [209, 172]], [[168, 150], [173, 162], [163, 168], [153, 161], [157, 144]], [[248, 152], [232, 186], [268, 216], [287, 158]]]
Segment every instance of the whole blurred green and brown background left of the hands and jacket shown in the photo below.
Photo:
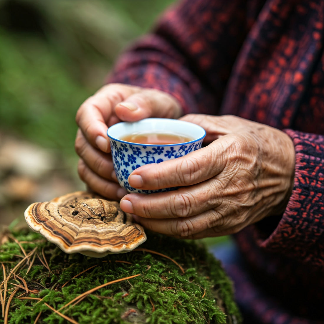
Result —
[[172, 0], [0, 0], [0, 224], [83, 190], [75, 113]]

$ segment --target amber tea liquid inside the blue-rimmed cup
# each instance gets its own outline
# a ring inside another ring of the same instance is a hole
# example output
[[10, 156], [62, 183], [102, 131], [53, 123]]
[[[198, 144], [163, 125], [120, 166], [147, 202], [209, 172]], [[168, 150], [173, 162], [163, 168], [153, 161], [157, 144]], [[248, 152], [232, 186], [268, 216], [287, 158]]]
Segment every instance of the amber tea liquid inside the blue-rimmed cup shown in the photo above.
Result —
[[121, 140], [138, 144], [165, 145], [190, 142], [193, 140], [193, 138], [177, 133], [137, 132], [125, 135], [121, 137]]

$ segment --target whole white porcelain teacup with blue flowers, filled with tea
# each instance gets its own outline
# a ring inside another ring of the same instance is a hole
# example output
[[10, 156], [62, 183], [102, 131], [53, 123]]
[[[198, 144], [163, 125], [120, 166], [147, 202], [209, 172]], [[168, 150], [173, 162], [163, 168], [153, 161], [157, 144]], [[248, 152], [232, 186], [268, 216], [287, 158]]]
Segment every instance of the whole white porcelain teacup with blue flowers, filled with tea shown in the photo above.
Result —
[[[152, 137], [153, 134], [153, 144], [147, 144], [147, 140], [142, 141], [143, 137], [146, 136], [145, 134], [149, 134], [148, 137]], [[160, 136], [160, 134], [168, 134], [167, 137], [170, 138], [163, 142], [164, 139], [162, 138], [161, 141], [159, 137], [164, 137], [164, 135]], [[110, 139], [111, 155], [119, 184], [128, 192], [154, 193], [175, 190], [176, 188], [135, 189], [128, 183], [128, 177], [133, 170], [145, 164], [160, 163], [198, 150], [203, 143], [206, 132], [202, 127], [188, 121], [146, 118], [135, 122], [117, 123], [109, 127], [107, 135]], [[178, 141], [181, 143], [175, 143], [177, 140], [174, 137], [178, 135], [180, 138]], [[142, 143], [135, 143], [137, 141], [142, 141]]]

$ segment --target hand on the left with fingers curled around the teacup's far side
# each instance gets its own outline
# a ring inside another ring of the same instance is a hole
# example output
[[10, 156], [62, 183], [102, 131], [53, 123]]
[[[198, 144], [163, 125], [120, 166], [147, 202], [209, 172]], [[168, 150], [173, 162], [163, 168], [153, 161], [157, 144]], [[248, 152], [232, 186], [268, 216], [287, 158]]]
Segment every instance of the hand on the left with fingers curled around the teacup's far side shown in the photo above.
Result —
[[112, 83], [100, 88], [76, 113], [78, 173], [88, 188], [112, 200], [128, 192], [118, 184], [110, 154], [108, 127], [148, 117], [179, 118], [179, 102], [166, 92]]

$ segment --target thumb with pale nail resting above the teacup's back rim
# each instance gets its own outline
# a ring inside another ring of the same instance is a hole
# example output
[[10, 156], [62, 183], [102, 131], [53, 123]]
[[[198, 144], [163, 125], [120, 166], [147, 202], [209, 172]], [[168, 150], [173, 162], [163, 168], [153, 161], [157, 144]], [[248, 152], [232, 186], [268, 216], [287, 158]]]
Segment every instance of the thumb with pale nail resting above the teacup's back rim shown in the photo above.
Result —
[[138, 121], [148, 117], [179, 118], [181, 106], [173, 96], [156, 89], [143, 89], [115, 107], [123, 121]]

